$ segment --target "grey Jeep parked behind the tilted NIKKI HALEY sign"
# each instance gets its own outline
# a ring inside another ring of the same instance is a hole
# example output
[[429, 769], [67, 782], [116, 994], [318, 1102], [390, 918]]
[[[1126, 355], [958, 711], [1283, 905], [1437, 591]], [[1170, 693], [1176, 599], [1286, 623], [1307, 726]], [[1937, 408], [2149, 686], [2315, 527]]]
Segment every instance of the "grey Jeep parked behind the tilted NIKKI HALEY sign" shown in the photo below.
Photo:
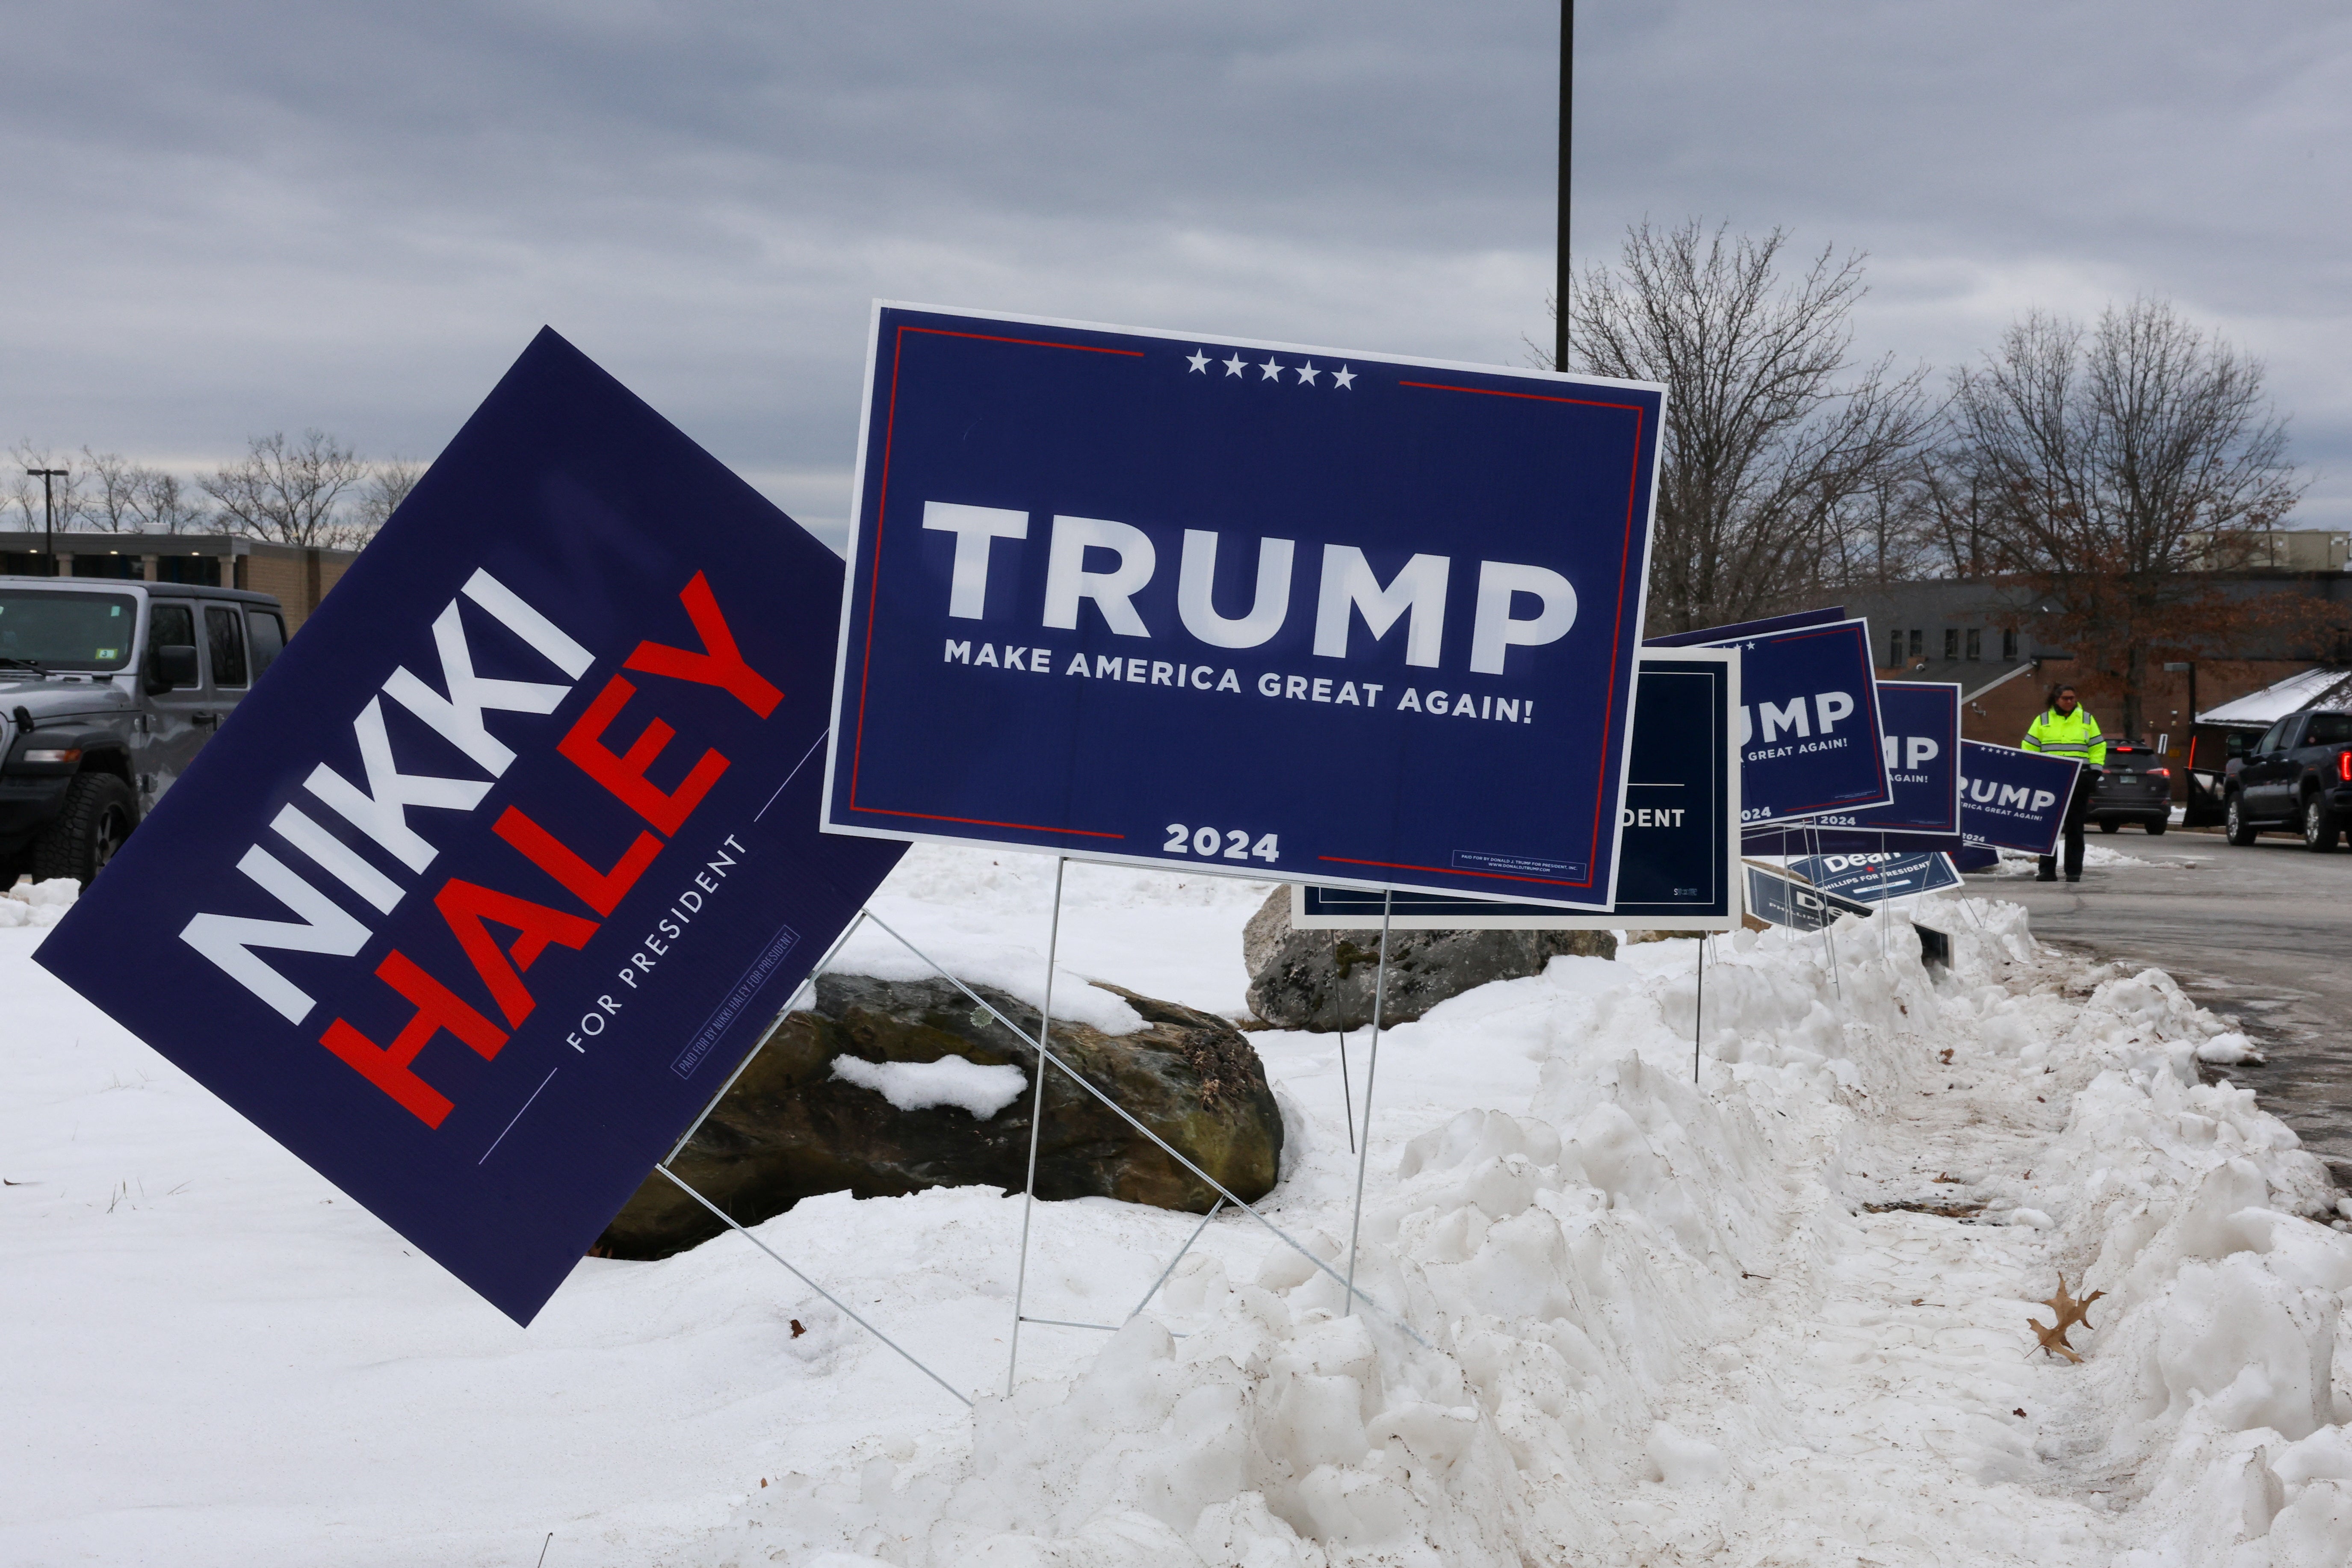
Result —
[[266, 592], [0, 576], [0, 875], [96, 877], [285, 642]]

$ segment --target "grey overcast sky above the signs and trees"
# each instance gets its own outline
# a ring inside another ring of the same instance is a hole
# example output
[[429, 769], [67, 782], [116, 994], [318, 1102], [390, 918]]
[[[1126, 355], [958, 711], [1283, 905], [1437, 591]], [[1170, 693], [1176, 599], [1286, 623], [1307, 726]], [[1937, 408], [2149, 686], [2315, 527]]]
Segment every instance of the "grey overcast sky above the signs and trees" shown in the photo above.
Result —
[[[1550, 334], [1557, 5], [19, 14], [0, 442], [430, 456], [541, 324], [837, 541], [875, 296], [1519, 362]], [[2352, 527], [2343, 0], [1585, 0], [1576, 254], [1870, 254], [1860, 348], [2173, 299], [2270, 364]]]

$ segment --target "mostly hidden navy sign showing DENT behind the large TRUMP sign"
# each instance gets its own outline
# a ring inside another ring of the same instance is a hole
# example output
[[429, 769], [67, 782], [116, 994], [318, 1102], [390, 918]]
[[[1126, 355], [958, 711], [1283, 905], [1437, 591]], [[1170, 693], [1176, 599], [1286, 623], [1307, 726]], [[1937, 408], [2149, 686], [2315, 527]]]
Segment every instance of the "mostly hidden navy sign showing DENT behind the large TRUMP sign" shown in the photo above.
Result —
[[1378, 929], [1383, 900], [1397, 931], [1731, 931], [1740, 924], [1740, 769], [1731, 715], [1738, 654], [1642, 651], [1632, 705], [1632, 778], [1618, 811], [1618, 900], [1604, 914], [1531, 903], [1291, 886], [1301, 931]]

